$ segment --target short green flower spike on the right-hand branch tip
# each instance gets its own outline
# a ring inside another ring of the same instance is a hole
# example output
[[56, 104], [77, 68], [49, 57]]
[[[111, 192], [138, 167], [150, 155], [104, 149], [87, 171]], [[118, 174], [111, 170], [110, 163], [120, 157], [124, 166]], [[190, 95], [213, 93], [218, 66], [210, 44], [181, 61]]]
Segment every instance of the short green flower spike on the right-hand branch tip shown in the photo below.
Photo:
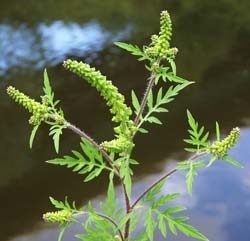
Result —
[[224, 157], [230, 148], [232, 148], [240, 137], [240, 128], [235, 127], [231, 130], [229, 135], [221, 141], [216, 141], [210, 147], [209, 152], [218, 157]]

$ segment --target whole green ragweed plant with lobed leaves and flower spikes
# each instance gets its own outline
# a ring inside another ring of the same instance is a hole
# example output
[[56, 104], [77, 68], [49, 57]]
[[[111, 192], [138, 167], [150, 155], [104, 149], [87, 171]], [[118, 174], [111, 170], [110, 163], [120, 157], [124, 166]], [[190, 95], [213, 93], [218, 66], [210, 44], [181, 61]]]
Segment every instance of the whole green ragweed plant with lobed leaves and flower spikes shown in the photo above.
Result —
[[[109, 184], [106, 199], [99, 207], [94, 207], [91, 202], [78, 209], [74, 203], [58, 201], [50, 197], [51, 203], [58, 209], [55, 212], [44, 214], [47, 222], [58, 223], [61, 226], [59, 240], [63, 237], [65, 229], [78, 221], [78, 215], [85, 215], [82, 233], [75, 237], [84, 241], [153, 241], [154, 233], [160, 232], [164, 237], [169, 233], [177, 235], [178, 232], [194, 239], [207, 241], [207, 237], [196, 228], [188, 224], [188, 218], [183, 216], [183, 206], [171, 203], [179, 197], [179, 193], [162, 193], [166, 179], [177, 171], [186, 172], [186, 184], [190, 194], [194, 177], [200, 168], [208, 167], [215, 161], [225, 161], [235, 166], [241, 164], [229, 156], [228, 151], [238, 141], [239, 128], [233, 128], [227, 137], [221, 139], [219, 124], [216, 122], [215, 133], [217, 139], [209, 141], [209, 133], [187, 111], [188, 144], [186, 151], [192, 155], [187, 160], [179, 162], [173, 170], [165, 173], [155, 180], [146, 190], [135, 197], [133, 193], [133, 166], [139, 161], [133, 158], [135, 148], [134, 137], [136, 134], [146, 134], [145, 123], [161, 125], [157, 114], [168, 112], [167, 106], [186, 87], [193, 82], [177, 75], [175, 57], [177, 48], [171, 46], [172, 23], [167, 11], [160, 16], [160, 31], [151, 38], [151, 42], [142, 48], [116, 42], [115, 45], [134, 55], [139, 61], [146, 62], [149, 78], [146, 81], [146, 90], [140, 100], [136, 93], [131, 91], [132, 106], [128, 106], [124, 96], [110, 80], [90, 65], [75, 60], [66, 60], [63, 66], [86, 80], [95, 88], [112, 114], [114, 138], [97, 143], [85, 131], [71, 124], [58, 107], [59, 101], [55, 100], [47, 72], [44, 71], [44, 94], [41, 101], [35, 101], [29, 96], [8, 87], [8, 95], [31, 113], [29, 123], [33, 125], [30, 136], [30, 147], [35, 133], [42, 123], [50, 126], [49, 135], [53, 137], [56, 152], [59, 151], [59, 140], [65, 128], [79, 135], [80, 148], [61, 158], [47, 161], [54, 165], [66, 166], [84, 176], [88, 182], [97, 178], [102, 172], [109, 174]], [[159, 83], [161, 83], [159, 85]], [[160, 87], [161, 86], [161, 87]], [[114, 188], [114, 179], [117, 178], [122, 186], [124, 206], [118, 204], [117, 193]], [[144, 217], [144, 230], [138, 233], [140, 217]]]

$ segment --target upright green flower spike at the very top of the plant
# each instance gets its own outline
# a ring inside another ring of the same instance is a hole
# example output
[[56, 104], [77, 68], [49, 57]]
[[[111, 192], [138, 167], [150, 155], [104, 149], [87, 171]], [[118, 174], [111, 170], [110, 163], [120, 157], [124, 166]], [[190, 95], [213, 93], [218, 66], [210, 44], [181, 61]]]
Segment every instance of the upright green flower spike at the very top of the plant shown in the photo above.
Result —
[[167, 11], [161, 12], [160, 32], [151, 37], [151, 43], [145, 48], [145, 52], [155, 59], [167, 59], [168, 61], [175, 58], [178, 49], [170, 48], [172, 36], [172, 22]]

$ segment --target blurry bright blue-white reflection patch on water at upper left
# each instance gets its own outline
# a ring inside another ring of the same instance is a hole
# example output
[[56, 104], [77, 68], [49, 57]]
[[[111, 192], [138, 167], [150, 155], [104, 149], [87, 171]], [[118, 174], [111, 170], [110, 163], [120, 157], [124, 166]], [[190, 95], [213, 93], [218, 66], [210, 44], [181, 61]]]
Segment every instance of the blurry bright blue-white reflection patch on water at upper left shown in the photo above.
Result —
[[[55, 21], [39, 23], [35, 28], [25, 24], [0, 25], [0, 76], [14, 71], [41, 69], [61, 63], [67, 56], [86, 56], [91, 60], [103, 48], [119, 39], [126, 39], [132, 26], [110, 32], [98, 22], [86, 24]], [[6, 76], [5, 76], [6, 77]]]

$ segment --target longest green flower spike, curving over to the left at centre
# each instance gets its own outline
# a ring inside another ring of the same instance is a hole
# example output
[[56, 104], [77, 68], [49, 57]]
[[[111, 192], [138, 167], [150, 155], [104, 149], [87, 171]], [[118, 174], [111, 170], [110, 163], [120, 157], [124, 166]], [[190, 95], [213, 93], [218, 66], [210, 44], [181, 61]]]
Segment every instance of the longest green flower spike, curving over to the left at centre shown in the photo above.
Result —
[[83, 62], [66, 60], [64, 67], [73, 73], [87, 80], [87, 82], [100, 92], [110, 107], [110, 112], [114, 115], [112, 121], [118, 122], [119, 126], [114, 128], [116, 139], [102, 143], [104, 149], [120, 153], [132, 145], [132, 135], [134, 133], [134, 124], [130, 120], [131, 109], [125, 104], [125, 98], [119, 93], [110, 80]]

